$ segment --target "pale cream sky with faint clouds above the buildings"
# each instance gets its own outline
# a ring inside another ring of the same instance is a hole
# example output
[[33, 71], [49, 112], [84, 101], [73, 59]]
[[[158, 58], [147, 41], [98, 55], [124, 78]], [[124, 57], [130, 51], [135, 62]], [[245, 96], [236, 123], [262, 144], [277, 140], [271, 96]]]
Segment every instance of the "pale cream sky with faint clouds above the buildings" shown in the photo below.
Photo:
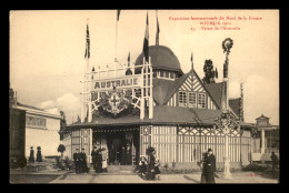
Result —
[[[116, 50], [120, 63], [127, 62], [129, 52], [131, 62], [137, 60], [147, 12], [149, 44], [156, 43], [158, 13], [159, 43], [172, 50], [185, 73], [191, 68], [192, 52], [198, 75], [203, 77], [205, 60], [211, 59], [219, 72], [216, 81], [221, 82], [226, 59], [221, 43], [231, 38], [229, 98], [240, 96], [243, 83], [245, 121], [255, 123], [263, 114], [271, 124], [279, 124], [278, 10], [121, 10], [118, 30], [117, 10], [11, 11], [10, 85], [18, 101], [43, 109], [57, 106], [64, 111], [68, 123], [76, 121], [87, 64], [87, 23], [89, 63], [106, 69], [113, 67]], [[189, 20], [180, 20], [183, 18]], [[223, 27], [227, 30], [220, 30]]]

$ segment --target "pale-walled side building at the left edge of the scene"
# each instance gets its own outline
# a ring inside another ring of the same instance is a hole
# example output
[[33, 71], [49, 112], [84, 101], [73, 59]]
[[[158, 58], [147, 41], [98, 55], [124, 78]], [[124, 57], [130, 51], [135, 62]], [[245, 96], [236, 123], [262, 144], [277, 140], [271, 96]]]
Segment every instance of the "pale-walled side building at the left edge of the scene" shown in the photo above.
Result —
[[[34, 158], [37, 148], [41, 148], [42, 158], [59, 155], [57, 149], [60, 144], [60, 112], [57, 108], [40, 109], [17, 101], [17, 96], [11, 103], [10, 110], [12, 112], [26, 112], [24, 118], [21, 118], [21, 125], [24, 130], [21, 133], [11, 135], [10, 132], [10, 149], [14, 145], [20, 145], [21, 152], [28, 159], [30, 155], [30, 148], [34, 150]], [[10, 116], [10, 119], [12, 119]]]

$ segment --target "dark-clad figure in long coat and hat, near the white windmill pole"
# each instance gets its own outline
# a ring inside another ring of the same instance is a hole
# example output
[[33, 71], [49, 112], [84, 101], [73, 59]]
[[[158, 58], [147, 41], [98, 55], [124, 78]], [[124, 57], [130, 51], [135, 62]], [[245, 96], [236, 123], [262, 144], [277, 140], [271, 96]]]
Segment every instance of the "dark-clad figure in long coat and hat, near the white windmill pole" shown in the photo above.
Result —
[[216, 158], [212, 153], [211, 149], [208, 149], [208, 152], [203, 153], [201, 160], [201, 183], [216, 183], [215, 175], [216, 175]]

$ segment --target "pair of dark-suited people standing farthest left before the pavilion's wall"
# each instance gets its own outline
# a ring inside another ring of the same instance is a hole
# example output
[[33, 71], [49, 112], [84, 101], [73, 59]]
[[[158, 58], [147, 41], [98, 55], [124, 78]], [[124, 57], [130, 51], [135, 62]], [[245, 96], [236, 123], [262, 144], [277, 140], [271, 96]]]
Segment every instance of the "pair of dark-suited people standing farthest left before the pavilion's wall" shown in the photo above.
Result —
[[89, 169], [87, 165], [87, 154], [84, 152], [86, 149], [82, 149], [79, 152], [79, 149], [76, 149], [76, 153], [73, 153], [73, 161], [76, 165], [76, 173], [88, 173]]

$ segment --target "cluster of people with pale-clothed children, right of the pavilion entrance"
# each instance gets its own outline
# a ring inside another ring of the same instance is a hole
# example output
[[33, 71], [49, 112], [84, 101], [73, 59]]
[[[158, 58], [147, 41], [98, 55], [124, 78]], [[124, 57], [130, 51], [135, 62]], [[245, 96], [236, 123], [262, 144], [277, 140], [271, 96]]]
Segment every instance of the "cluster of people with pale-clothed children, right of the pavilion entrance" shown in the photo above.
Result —
[[160, 181], [160, 160], [153, 150], [149, 154], [149, 160], [144, 155], [140, 156], [139, 173], [143, 180], [158, 180]]

